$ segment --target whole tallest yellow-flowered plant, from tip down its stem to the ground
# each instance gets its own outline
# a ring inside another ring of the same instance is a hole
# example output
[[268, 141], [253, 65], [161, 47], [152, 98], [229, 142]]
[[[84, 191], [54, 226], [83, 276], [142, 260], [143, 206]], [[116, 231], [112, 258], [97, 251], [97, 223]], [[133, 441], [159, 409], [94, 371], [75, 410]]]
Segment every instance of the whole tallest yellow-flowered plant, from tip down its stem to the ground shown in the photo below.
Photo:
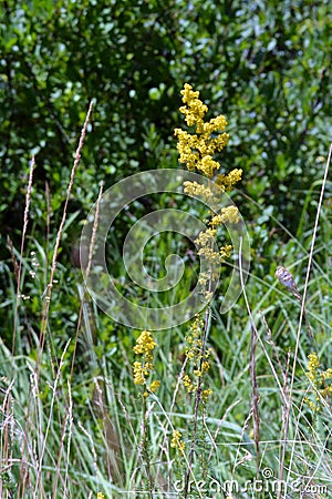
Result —
[[[232, 246], [230, 244], [218, 247], [216, 237], [218, 230], [226, 223], [237, 223], [238, 208], [234, 205], [215, 210], [221, 195], [230, 191], [234, 185], [241, 180], [242, 170], [235, 169], [230, 172], [222, 172], [221, 165], [216, 157], [227, 145], [229, 134], [225, 132], [227, 121], [224, 115], [205, 120], [208, 111], [199, 100], [199, 92], [194, 91], [193, 86], [186, 83], [181, 90], [184, 105], [179, 111], [185, 115], [186, 124], [189, 129], [194, 128], [194, 133], [187, 130], [175, 129], [177, 138], [177, 150], [179, 162], [185, 164], [191, 172], [206, 176], [210, 182], [185, 182], [184, 192], [189, 196], [198, 196], [214, 210], [209, 213], [207, 228], [198, 234], [195, 243], [198, 247], [198, 255], [208, 263], [209, 272], [201, 273], [199, 285], [207, 303], [204, 314], [195, 317], [189, 333], [187, 335], [186, 348], [186, 373], [183, 374], [183, 383], [187, 391], [194, 396], [194, 425], [191, 441], [189, 446], [188, 469], [186, 473], [185, 498], [188, 496], [188, 482], [194, 465], [195, 446], [198, 432], [198, 417], [204, 420], [206, 415], [206, 404], [212, 396], [212, 390], [206, 383], [210, 369], [210, 348], [207, 345], [208, 330], [210, 327], [210, 299], [212, 297], [212, 283], [219, 276], [219, 266], [231, 255]], [[189, 373], [188, 373], [189, 370]], [[201, 426], [204, 428], [204, 424]], [[184, 451], [184, 447], [180, 448]], [[204, 464], [201, 464], [204, 465]], [[200, 467], [204, 470], [204, 467]], [[204, 471], [203, 471], [204, 472]], [[204, 477], [201, 477], [204, 478]]]

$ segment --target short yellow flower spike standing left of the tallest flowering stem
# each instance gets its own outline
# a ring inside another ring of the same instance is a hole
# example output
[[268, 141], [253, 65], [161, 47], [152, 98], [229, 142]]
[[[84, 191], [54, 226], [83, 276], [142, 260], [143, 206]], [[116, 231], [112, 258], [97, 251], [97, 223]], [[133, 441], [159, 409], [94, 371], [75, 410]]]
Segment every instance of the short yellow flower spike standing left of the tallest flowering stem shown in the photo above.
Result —
[[155, 380], [151, 385], [147, 383], [147, 378], [152, 373], [155, 371], [155, 366], [153, 364], [153, 350], [156, 347], [156, 342], [152, 337], [152, 334], [148, 330], [144, 330], [141, 333], [138, 338], [136, 339], [136, 345], [133, 350], [136, 355], [142, 355], [142, 361], [134, 361], [133, 371], [134, 371], [134, 384], [135, 385], [144, 385], [146, 387], [146, 391], [144, 391], [144, 397], [148, 397], [149, 393], [156, 393], [158, 387], [160, 386], [160, 381]]

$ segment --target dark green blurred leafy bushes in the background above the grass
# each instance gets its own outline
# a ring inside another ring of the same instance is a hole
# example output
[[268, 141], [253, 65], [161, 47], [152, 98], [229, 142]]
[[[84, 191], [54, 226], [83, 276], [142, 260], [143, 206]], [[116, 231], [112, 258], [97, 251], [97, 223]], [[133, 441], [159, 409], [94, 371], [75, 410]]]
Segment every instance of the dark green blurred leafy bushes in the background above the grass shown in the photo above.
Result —
[[[200, 91], [209, 118], [222, 113], [229, 122], [221, 166], [243, 170], [232, 195], [250, 232], [257, 306], [273, 286], [277, 265], [297, 264], [303, 277], [332, 136], [330, 0], [9, 0], [0, 6], [0, 329], [9, 348], [17, 284], [7, 236], [18, 257], [29, 162], [35, 155], [22, 276], [30, 299], [20, 305], [17, 348], [33, 358], [73, 155], [92, 100], [50, 313], [55, 357], [76, 329], [82, 277], [75, 252], [100, 183], [106, 189], [139, 171], [179, 167], [173, 130], [181, 126], [185, 82]], [[331, 258], [331, 183], [326, 189], [330, 211], [322, 213], [317, 268]], [[138, 220], [148, 210], [137, 203], [131, 215]], [[124, 230], [116, 228], [115, 247]], [[34, 279], [31, 252], [40, 265]], [[121, 268], [121, 253], [114, 265]], [[330, 293], [322, 277], [319, 305]], [[246, 316], [239, 302], [216, 327], [224, 323], [231, 335], [239, 320], [235, 337], [241, 338]], [[320, 324], [323, 336], [329, 324], [330, 317]], [[276, 326], [281, 332], [282, 317]], [[97, 370], [98, 360], [123, 358], [121, 325], [95, 310], [89, 327], [94, 352], [79, 338], [77, 366], [86, 368], [89, 359]], [[291, 343], [280, 334], [284, 346]], [[123, 342], [132, 345], [126, 335]], [[216, 347], [226, 352], [222, 342], [217, 336]], [[75, 397], [86, 405], [80, 390]]]

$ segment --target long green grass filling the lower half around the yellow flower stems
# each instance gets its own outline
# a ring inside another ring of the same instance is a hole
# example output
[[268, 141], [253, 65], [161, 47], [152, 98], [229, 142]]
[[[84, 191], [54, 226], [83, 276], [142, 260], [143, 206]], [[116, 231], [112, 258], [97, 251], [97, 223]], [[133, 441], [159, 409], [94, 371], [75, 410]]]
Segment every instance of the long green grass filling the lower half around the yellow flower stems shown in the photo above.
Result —
[[[313, 189], [305, 195], [307, 203], [318, 202]], [[33, 203], [33, 193], [29, 201]], [[326, 370], [332, 349], [331, 220], [329, 206], [318, 210], [321, 216], [305, 308]], [[66, 224], [58, 231], [61, 241], [74, 223], [65, 213], [63, 220]], [[278, 264], [289, 267], [303, 294], [312, 228], [313, 222], [305, 220], [303, 212], [297, 236], [270, 248], [279, 261], [270, 255], [268, 274], [261, 275], [253, 258], [247, 304], [241, 296], [222, 316], [218, 299], [212, 306], [211, 369], [205, 379], [212, 396], [198, 419], [188, 497], [226, 497], [226, 481], [245, 487], [246, 481], [257, 479], [267, 491], [235, 490], [231, 497], [277, 497], [271, 481], [281, 476], [282, 456], [288, 490], [299, 480], [302, 490], [304, 485], [317, 488], [315, 495], [308, 497], [331, 495], [331, 400], [320, 397], [305, 375], [312, 345], [303, 319], [299, 329], [300, 304], [273, 276]], [[143, 420], [142, 393], [132, 371], [138, 332], [113, 323], [98, 310], [84, 293], [80, 271], [62, 258], [61, 244], [56, 248], [55, 231], [53, 227], [55, 253], [50, 252], [50, 241], [27, 233], [23, 252], [11, 248], [11, 257], [2, 265], [8, 296], [1, 307], [12, 328], [7, 328], [0, 340], [0, 496], [85, 499], [96, 498], [100, 491], [106, 498], [184, 497], [195, 399], [179, 375], [189, 324], [154, 334], [155, 378], [160, 387], [147, 398]], [[258, 245], [259, 238], [253, 243]], [[153, 269], [169, 247], [180, 253], [183, 242], [160, 237], [156, 246], [151, 244]], [[59, 262], [52, 294], [48, 294], [52, 257]], [[14, 274], [12, 261], [18, 262], [19, 274]], [[121, 253], [113, 255], [113, 261], [121, 274]], [[190, 273], [185, 281], [189, 286]], [[18, 288], [25, 299], [18, 298]], [[183, 296], [185, 288], [168, 299], [176, 302]], [[143, 303], [145, 295], [137, 292], [136, 298]], [[167, 296], [149, 304], [159, 305], [164, 298]], [[319, 397], [320, 410], [313, 413], [305, 397]], [[174, 429], [186, 442], [184, 456], [170, 447]], [[302, 496], [295, 491], [293, 497]]]

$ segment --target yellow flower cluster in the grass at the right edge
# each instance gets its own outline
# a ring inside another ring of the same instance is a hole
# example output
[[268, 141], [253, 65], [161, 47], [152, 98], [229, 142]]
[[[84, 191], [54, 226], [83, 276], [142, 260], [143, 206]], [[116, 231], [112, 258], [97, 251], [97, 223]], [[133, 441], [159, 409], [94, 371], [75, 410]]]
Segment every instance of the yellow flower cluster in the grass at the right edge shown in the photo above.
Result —
[[329, 367], [326, 370], [322, 370], [319, 356], [315, 352], [310, 354], [308, 358], [307, 377], [312, 383], [317, 391], [317, 396], [315, 401], [310, 400], [308, 397], [305, 397], [304, 401], [309, 405], [312, 411], [317, 413], [322, 407], [322, 400], [329, 400], [332, 395], [332, 385], [329, 385], [332, 379], [332, 368]]

